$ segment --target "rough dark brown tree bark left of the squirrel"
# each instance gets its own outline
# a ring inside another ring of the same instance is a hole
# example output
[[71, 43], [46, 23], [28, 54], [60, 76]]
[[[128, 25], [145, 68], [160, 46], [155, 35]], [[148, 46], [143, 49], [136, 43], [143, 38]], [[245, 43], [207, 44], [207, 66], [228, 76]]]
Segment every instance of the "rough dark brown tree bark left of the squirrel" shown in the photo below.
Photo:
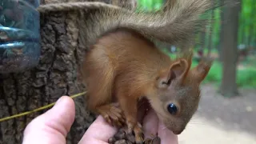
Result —
[[[75, 13], [41, 15], [42, 55], [39, 65], [23, 73], [0, 74], [0, 118], [34, 110], [55, 102], [62, 95], [78, 94], [85, 90], [78, 81], [78, 64], [86, 54], [86, 44], [83, 43], [86, 41], [78, 40], [75, 18]], [[74, 101], [76, 118], [67, 137], [67, 143], [70, 144], [78, 143], [94, 121], [94, 114], [86, 110], [83, 97], [75, 98]], [[1, 122], [0, 144], [22, 143], [26, 125], [43, 112], [45, 111]]]

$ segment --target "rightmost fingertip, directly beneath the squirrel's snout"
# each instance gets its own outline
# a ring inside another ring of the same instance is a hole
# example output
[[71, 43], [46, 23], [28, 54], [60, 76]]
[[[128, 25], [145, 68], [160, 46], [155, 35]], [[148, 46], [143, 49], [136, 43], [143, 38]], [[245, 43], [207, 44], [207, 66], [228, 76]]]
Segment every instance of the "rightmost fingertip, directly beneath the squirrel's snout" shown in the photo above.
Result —
[[159, 121], [158, 124], [158, 137], [161, 138], [161, 144], [178, 144], [178, 136]]

